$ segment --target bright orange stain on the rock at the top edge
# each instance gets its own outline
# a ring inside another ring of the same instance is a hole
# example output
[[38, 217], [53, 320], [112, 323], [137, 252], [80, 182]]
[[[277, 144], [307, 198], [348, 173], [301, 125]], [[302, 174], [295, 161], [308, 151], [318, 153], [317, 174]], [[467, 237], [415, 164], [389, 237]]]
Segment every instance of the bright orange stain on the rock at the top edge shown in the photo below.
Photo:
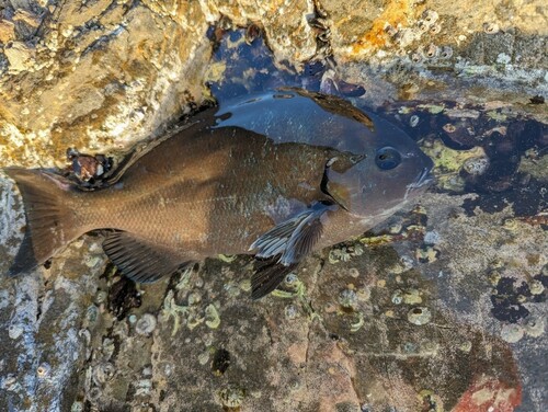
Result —
[[385, 33], [385, 27], [388, 24], [392, 27], [397, 27], [398, 24], [407, 25], [411, 12], [410, 0], [389, 0], [383, 13], [373, 21], [370, 30], [353, 45], [351, 57], [372, 53], [386, 46], [388, 36]]

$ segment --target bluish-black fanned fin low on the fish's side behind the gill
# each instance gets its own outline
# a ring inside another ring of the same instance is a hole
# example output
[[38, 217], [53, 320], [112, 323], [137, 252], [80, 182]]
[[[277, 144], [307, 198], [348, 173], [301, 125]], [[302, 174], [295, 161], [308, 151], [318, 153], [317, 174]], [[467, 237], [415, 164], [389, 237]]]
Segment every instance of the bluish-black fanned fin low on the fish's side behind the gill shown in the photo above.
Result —
[[322, 216], [336, 206], [318, 202], [309, 209], [286, 220], [253, 242], [256, 250], [255, 273], [251, 278], [251, 297], [259, 299], [272, 290], [310, 253], [323, 232]]

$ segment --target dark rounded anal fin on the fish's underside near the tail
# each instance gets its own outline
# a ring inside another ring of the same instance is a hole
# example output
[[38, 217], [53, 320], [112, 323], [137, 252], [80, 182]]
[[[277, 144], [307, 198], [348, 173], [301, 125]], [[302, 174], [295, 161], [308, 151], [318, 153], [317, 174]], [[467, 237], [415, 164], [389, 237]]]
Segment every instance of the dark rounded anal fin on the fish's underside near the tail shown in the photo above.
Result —
[[103, 250], [119, 271], [139, 283], [152, 283], [190, 263], [173, 250], [129, 232], [111, 233]]

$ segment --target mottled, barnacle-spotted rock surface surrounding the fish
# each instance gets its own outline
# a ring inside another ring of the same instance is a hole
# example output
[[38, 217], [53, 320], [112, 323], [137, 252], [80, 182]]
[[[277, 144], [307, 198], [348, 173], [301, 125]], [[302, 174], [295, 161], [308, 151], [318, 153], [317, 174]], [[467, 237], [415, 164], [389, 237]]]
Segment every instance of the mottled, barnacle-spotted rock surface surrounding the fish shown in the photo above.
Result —
[[[359, 104], [426, 136], [441, 193], [258, 302], [244, 258], [135, 286], [96, 236], [1, 277], [0, 411], [543, 410], [544, 0], [0, 0], [0, 167], [161, 134], [224, 76], [208, 27], [251, 23], [279, 69], [332, 56]], [[230, 81], [264, 75], [246, 64]], [[496, 173], [471, 175], [486, 157]], [[0, 203], [3, 273], [24, 226], [5, 179]]]

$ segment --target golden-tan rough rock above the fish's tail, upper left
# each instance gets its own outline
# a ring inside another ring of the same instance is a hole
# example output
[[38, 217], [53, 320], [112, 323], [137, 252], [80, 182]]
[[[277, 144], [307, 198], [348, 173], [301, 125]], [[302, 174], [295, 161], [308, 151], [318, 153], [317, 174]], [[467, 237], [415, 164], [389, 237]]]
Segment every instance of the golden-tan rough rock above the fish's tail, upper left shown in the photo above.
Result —
[[[3, 49], [2, 164], [60, 164], [67, 147], [126, 147], [199, 101], [206, 16], [192, 4], [155, 4], [69, 2], [41, 26], [35, 48]], [[19, 149], [24, 141], [33, 144]]]

